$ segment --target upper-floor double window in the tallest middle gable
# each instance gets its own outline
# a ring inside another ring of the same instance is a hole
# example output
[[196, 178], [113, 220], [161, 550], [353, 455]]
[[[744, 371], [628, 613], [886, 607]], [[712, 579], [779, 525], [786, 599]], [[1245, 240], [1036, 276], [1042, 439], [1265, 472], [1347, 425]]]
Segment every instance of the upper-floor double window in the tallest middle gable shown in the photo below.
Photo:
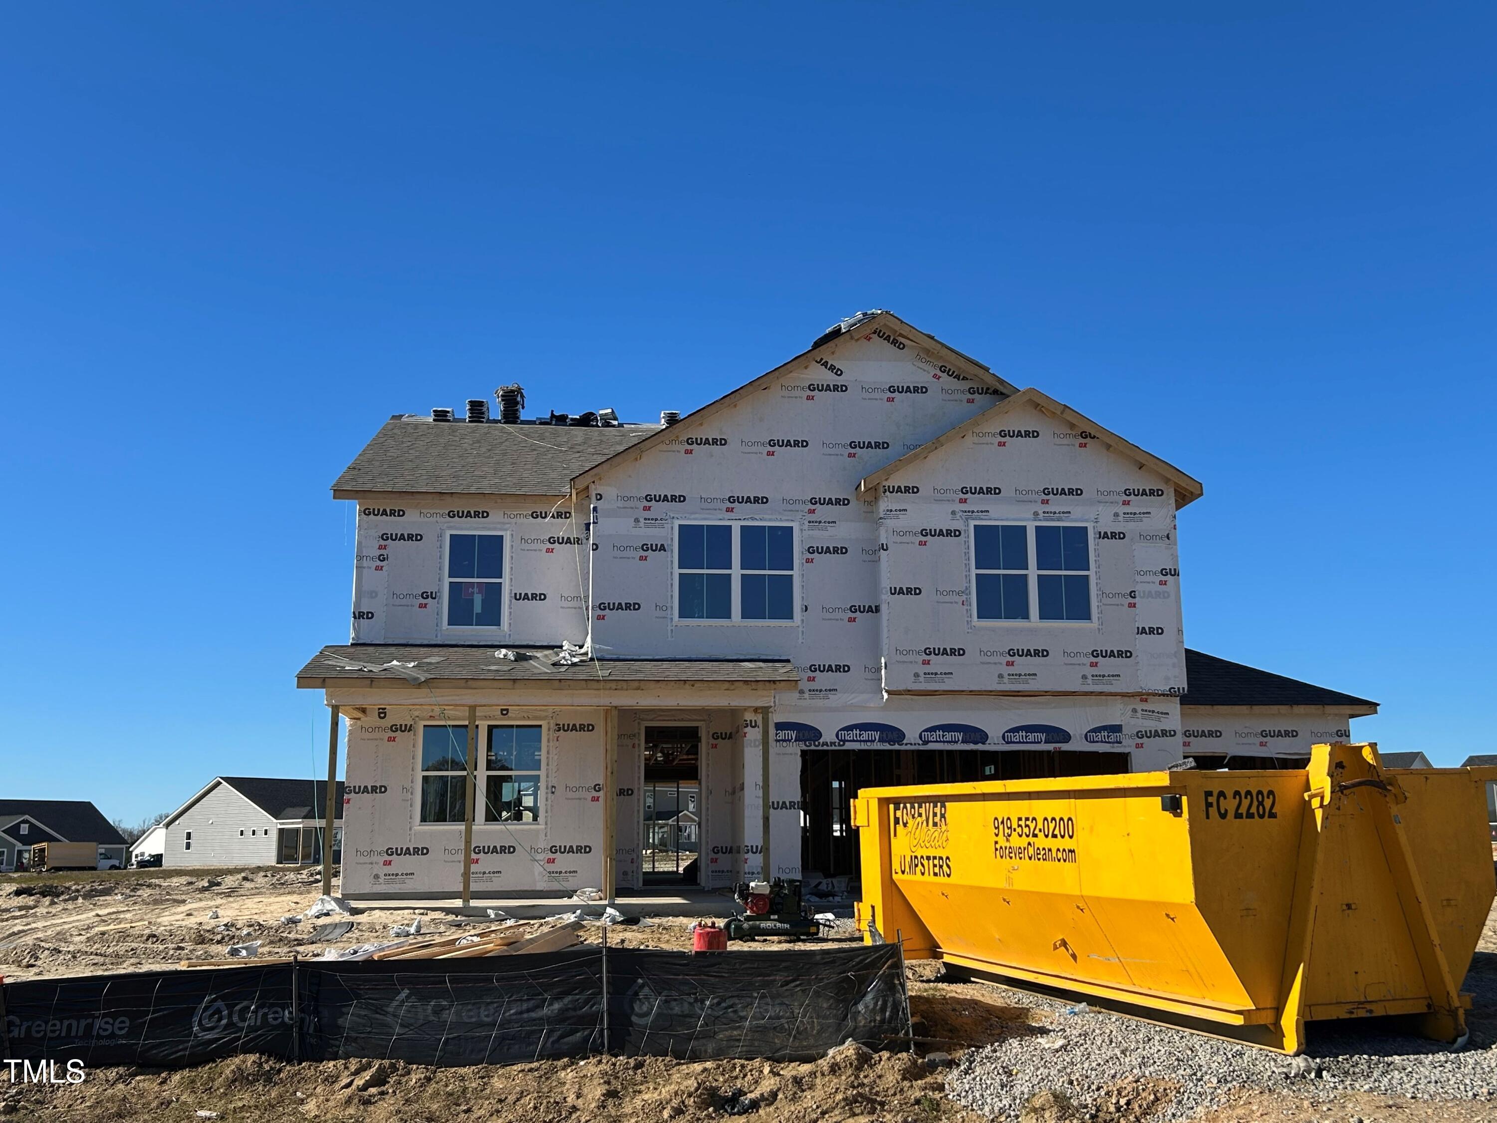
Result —
[[678, 620], [795, 620], [792, 526], [678, 523], [675, 572]]

